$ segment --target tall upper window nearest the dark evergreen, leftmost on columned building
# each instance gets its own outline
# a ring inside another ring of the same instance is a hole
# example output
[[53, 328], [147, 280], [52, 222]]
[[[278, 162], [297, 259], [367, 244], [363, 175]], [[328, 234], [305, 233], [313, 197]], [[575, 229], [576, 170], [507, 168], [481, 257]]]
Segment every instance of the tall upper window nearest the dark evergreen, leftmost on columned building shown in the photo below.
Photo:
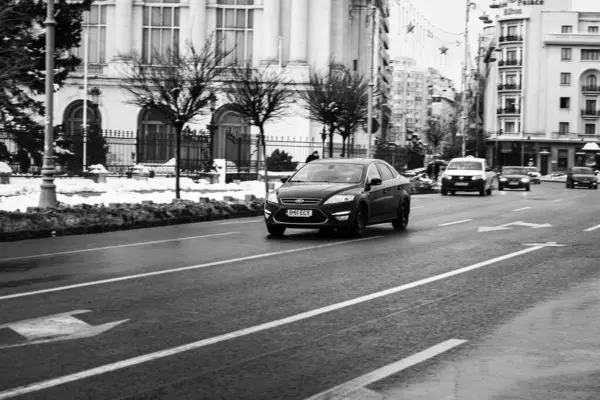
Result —
[[[90, 11], [83, 13], [83, 30], [89, 32], [89, 63], [106, 64], [106, 5], [93, 5]], [[74, 54], [81, 58], [85, 57], [85, 43], [82, 32], [81, 42]]]

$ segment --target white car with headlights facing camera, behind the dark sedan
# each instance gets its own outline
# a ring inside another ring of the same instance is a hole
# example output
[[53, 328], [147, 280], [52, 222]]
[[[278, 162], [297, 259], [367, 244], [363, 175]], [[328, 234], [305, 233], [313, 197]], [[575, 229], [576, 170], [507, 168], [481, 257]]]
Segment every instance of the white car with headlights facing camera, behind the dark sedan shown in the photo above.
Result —
[[450, 160], [442, 174], [442, 196], [455, 192], [479, 192], [491, 195], [496, 174], [485, 159], [467, 156]]

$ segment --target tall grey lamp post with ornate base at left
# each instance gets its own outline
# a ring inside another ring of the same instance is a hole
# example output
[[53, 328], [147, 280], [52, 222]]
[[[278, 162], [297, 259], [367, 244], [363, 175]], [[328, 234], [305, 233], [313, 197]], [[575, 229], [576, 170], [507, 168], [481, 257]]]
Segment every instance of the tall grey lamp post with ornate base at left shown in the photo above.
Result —
[[56, 207], [56, 185], [54, 184], [54, 0], [46, 6], [46, 116], [44, 117], [44, 163], [40, 186], [40, 208]]

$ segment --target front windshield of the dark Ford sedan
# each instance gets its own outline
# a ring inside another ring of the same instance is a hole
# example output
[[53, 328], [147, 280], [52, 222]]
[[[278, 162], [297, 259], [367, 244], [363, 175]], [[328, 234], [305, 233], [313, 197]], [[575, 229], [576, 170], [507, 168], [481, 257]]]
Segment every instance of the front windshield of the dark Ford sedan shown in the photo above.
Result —
[[358, 183], [362, 176], [362, 164], [316, 163], [302, 167], [288, 182]]

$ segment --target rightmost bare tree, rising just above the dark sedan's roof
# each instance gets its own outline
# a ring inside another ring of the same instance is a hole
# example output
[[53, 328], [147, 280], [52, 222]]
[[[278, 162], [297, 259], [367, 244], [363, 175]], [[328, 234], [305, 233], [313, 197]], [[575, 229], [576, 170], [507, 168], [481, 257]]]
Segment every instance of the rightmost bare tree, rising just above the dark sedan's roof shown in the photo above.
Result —
[[364, 76], [346, 71], [346, 86], [342, 90], [342, 112], [338, 131], [342, 136], [342, 154], [351, 135], [369, 115], [369, 85]]

